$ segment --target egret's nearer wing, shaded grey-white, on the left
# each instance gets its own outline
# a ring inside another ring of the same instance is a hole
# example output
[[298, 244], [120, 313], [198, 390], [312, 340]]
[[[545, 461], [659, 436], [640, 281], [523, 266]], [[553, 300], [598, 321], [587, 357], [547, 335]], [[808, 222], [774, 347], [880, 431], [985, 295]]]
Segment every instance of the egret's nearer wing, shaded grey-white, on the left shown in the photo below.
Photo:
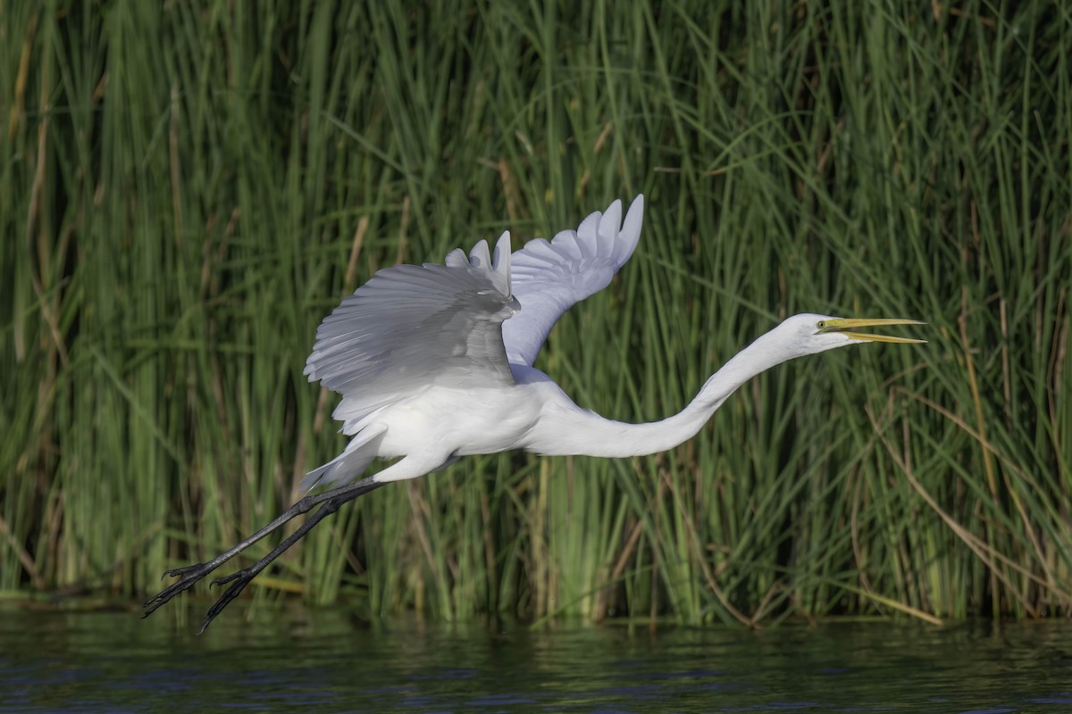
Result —
[[304, 370], [343, 395], [336, 419], [348, 425], [433, 384], [512, 384], [502, 333], [518, 309], [510, 262], [503, 233], [494, 260], [480, 241], [445, 265], [378, 271], [343, 300], [316, 330]]

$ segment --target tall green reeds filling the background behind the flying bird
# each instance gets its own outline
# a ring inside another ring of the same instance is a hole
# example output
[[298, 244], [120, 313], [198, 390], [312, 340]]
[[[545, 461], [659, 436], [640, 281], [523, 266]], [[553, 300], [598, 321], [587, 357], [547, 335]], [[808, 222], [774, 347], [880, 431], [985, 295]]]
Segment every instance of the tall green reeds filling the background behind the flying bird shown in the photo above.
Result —
[[[470, 457], [251, 588], [370, 616], [1072, 610], [1057, 2], [6, 3], [0, 591], [139, 598], [343, 446], [301, 367], [377, 268], [647, 197], [538, 365], [660, 419], [795, 312], [927, 320], [631, 460]], [[181, 612], [181, 608], [174, 608]]]

